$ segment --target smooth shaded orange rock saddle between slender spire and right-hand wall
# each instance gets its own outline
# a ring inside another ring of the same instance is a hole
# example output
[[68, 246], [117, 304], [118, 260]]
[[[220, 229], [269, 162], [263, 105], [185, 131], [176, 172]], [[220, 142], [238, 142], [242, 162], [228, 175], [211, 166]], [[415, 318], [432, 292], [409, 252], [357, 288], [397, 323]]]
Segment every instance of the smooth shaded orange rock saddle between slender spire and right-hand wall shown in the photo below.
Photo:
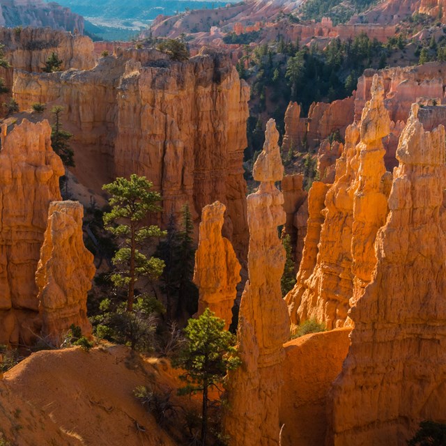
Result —
[[349, 328], [307, 334], [284, 345], [280, 404], [282, 446], [321, 446], [327, 428], [328, 391], [348, 353]]

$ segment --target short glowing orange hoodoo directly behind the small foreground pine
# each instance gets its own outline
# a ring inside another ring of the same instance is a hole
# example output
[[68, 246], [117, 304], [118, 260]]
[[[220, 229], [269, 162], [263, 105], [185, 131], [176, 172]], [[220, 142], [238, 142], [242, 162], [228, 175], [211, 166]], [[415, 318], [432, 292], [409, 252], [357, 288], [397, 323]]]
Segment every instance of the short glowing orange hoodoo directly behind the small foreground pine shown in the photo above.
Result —
[[215, 316], [224, 319], [228, 330], [241, 266], [231, 242], [222, 237], [225, 210], [220, 201], [203, 208], [193, 282], [199, 289], [198, 315], [209, 308]]

